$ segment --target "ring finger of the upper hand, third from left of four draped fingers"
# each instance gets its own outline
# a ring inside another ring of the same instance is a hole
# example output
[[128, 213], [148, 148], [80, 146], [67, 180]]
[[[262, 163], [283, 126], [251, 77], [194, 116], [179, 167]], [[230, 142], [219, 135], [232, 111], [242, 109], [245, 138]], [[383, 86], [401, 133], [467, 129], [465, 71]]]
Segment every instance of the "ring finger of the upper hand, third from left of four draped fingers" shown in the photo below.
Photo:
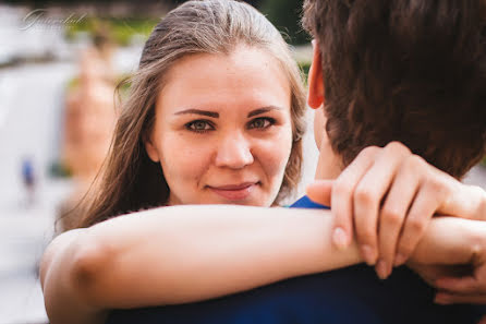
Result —
[[[417, 172], [411, 169], [402, 169], [394, 178], [391, 189], [379, 214], [378, 250], [379, 264], [385, 269], [378, 269], [380, 277], [388, 277], [394, 264], [400, 232], [409, 213], [410, 205], [420, 185]], [[398, 256], [400, 265], [405, 262]]]

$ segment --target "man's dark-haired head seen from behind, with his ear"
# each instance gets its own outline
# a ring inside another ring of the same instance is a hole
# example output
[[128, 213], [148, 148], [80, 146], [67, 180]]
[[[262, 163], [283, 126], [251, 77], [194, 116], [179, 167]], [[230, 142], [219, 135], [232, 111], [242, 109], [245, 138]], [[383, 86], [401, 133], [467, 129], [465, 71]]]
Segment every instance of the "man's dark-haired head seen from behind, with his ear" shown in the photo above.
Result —
[[400, 141], [460, 178], [485, 153], [486, 1], [305, 0], [309, 105], [344, 165]]

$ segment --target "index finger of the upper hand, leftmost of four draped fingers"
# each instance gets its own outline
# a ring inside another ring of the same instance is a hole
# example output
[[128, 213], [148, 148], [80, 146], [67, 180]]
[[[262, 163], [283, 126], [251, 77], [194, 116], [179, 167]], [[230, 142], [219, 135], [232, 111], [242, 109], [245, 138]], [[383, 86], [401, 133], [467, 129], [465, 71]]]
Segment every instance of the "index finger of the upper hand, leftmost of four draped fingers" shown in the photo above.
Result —
[[353, 237], [353, 192], [356, 183], [373, 165], [379, 147], [369, 146], [341, 172], [331, 190], [331, 213], [335, 217], [332, 242], [338, 248], [345, 248]]

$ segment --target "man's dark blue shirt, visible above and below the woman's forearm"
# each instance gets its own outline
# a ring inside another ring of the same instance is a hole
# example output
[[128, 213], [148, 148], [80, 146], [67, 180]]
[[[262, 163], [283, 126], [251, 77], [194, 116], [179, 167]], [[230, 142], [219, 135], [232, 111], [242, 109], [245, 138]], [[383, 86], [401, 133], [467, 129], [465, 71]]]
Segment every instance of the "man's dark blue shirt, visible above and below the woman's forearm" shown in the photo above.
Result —
[[[292, 207], [327, 208], [306, 196]], [[434, 295], [408, 267], [380, 280], [361, 264], [202, 302], [116, 310], [107, 324], [476, 324], [486, 314], [484, 307], [435, 304]]]

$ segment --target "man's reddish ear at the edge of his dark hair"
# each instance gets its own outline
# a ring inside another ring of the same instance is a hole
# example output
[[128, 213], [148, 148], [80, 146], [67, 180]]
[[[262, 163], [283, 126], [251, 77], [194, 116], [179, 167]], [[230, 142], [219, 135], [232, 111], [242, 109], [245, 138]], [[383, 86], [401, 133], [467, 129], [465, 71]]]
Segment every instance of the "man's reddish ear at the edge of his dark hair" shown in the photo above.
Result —
[[313, 60], [308, 71], [307, 104], [311, 108], [317, 109], [323, 106], [324, 101], [323, 60], [319, 44], [317, 40], [313, 40]]

